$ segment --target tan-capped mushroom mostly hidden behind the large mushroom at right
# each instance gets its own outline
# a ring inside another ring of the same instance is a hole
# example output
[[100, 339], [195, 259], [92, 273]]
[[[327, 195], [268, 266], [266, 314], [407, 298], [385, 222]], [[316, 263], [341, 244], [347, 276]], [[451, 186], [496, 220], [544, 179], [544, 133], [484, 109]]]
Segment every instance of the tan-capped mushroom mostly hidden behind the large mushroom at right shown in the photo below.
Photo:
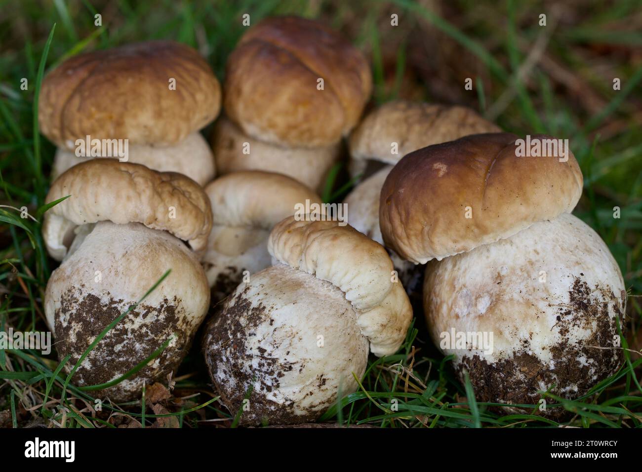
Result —
[[[345, 198], [348, 222], [383, 244], [379, 229], [379, 194], [392, 166], [409, 152], [431, 144], [499, 128], [473, 110], [407, 100], [385, 103], [370, 112], [350, 136], [350, 171], [365, 180]], [[423, 270], [394, 252], [390, 258], [411, 298], [421, 299]], [[421, 302], [418, 302], [421, 306]]]

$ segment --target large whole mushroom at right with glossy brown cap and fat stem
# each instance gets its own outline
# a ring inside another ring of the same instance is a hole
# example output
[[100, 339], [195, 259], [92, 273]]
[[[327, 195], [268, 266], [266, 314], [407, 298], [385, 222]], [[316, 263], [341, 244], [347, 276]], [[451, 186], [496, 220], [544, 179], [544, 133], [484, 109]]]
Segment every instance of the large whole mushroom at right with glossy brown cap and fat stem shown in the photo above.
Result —
[[478, 401], [557, 416], [539, 392], [577, 398], [618, 369], [624, 285], [570, 214], [582, 194], [573, 154], [517, 157], [517, 139], [472, 135], [406, 155], [381, 190], [381, 232], [401, 257], [431, 261], [431, 337]]

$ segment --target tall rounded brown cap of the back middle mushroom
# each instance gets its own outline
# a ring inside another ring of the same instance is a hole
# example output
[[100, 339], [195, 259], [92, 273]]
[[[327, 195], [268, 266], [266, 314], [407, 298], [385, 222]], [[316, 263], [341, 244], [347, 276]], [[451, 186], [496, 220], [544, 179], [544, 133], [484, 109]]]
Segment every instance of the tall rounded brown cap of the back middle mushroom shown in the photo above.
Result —
[[313, 148], [347, 135], [371, 91], [368, 62], [336, 31], [314, 20], [272, 17], [248, 30], [230, 55], [223, 106], [245, 134]]

